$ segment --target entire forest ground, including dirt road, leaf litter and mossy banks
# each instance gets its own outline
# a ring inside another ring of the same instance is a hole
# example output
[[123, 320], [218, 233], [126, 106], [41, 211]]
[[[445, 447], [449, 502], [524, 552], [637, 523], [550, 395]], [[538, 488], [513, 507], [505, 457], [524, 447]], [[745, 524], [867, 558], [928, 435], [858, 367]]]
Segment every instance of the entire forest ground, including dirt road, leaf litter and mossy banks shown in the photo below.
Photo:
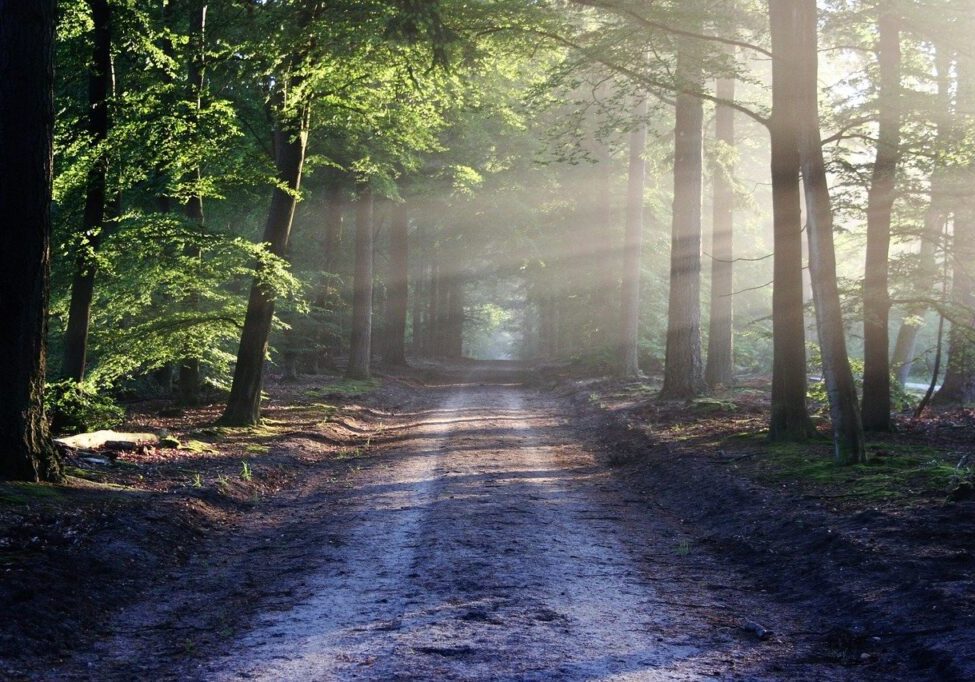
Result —
[[0, 678], [972, 679], [971, 412], [874, 463], [759, 387], [465, 364], [272, 381], [267, 422], [0, 484]]

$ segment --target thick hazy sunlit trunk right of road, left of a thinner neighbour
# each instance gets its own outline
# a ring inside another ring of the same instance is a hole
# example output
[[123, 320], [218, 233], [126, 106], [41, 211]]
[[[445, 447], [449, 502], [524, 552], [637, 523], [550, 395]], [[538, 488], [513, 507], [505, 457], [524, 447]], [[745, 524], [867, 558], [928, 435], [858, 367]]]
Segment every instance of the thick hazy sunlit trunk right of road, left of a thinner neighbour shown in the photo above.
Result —
[[[685, 43], [677, 74], [686, 88], [699, 87], [701, 63]], [[701, 362], [701, 180], [704, 106], [691, 92], [677, 95], [674, 144], [674, 218], [670, 247], [670, 299], [662, 398], [705, 392]]]

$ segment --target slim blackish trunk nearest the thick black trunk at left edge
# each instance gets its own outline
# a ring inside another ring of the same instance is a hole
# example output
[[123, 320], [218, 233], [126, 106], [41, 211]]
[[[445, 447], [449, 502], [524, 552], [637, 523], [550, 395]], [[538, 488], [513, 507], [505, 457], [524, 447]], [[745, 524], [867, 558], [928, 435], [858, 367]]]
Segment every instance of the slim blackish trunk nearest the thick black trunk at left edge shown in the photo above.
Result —
[[91, 302], [95, 293], [96, 264], [93, 258], [105, 229], [105, 196], [108, 158], [104, 143], [108, 137], [108, 96], [112, 91], [112, 12], [108, 0], [88, 0], [91, 8], [92, 60], [88, 72], [88, 135], [98, 150], [88, 171], [85, 189], [85, 210], [81, 229], [82, 243], [71, 282], [71, 303], [68, 326], [64, 335], [64, 365], [66, 379], [81, 381], [85, 377], [88, 355], [88, 327], [91, 323]]

